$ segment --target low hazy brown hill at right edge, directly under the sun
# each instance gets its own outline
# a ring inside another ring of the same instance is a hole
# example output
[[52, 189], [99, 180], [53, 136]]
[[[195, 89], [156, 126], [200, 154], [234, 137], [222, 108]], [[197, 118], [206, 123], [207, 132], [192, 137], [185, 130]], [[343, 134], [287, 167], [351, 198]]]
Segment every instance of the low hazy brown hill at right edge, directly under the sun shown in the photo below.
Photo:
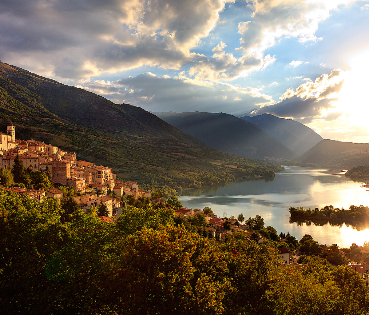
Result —
[[294, 159], [300, 166], [349, 169], [369, 165], [369, 144], [324, 139]]

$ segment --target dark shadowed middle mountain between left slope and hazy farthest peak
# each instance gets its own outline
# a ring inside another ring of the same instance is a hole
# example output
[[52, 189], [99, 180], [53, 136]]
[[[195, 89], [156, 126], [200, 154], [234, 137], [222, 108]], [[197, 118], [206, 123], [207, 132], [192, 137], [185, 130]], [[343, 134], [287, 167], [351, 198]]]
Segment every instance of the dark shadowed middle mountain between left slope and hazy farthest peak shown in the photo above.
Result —
[[155, 113], [209, 147], [252, 158], [296, 157], [289, 148], [252, 123], [225, 113]]

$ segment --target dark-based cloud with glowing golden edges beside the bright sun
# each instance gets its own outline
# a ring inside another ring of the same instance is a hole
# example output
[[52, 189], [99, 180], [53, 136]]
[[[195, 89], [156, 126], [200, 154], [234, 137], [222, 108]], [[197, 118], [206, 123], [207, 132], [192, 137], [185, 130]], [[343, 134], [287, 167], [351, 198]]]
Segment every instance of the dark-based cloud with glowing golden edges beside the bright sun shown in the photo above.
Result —
[[280, 102], [259, 107], [252, 114], [269, 113], [279, 117], [293, 117], [303, 119], [305, 123], [328, 113], [327, 120], [337, 119], [338, 113], [330, 113], [337, 101], [337, 93], [344, 83], [344, 71], [333, 70], [323, 74], [315, 81], [307, 81], [299, 85], [296, 90], [288, 89], [281, 97]]

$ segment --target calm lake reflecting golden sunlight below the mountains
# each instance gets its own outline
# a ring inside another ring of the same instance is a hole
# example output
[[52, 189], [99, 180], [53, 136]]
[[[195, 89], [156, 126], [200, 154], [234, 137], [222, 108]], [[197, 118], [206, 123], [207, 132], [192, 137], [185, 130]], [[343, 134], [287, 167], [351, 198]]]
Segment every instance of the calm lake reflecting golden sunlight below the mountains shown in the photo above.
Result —
[[289, 208], [334, 208], [348, 209], [350, 205], [369, 206], [368, 188], [363, 182], [354, 182], [345, 177], [346, 170], [323, 170], [305, 167], [286, 166], [277, 173], [275, 179], [241, 179], [228, 185], [182, 191], [178, 196], [187, 208], [210, 207], [223, 218], [235, 218], [242, 213], [245, 218], [264, 218], [265, 226], [275, 227], [280, 232], [290, 232], [298, 240], [310, 234], [320, 244], [338, 244], [349, 247], [352, 243], [363, 245], [369, 241], [369, 226], [363, 230], [343, 224], [342, 226], [307, 226], [289, 223]]

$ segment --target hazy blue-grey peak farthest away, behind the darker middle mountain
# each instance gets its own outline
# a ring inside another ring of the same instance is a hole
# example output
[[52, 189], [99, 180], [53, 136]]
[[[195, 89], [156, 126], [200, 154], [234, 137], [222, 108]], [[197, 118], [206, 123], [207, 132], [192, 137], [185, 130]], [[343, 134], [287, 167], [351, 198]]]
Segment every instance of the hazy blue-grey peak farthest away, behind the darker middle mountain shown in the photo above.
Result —
[[292, 119], [279, 118], [270, 114], [244, 116], [241, 119], [255, 124], [297, 155], [305, 153], [323, 140], [313, 129]]

